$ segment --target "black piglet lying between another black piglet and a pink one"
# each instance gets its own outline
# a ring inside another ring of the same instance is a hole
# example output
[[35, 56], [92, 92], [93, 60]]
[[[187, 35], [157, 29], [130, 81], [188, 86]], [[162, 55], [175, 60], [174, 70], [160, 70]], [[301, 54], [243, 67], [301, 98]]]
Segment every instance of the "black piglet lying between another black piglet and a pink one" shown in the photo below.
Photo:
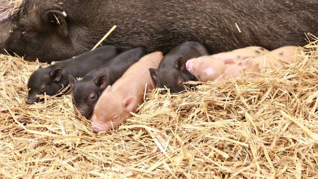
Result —
[[[97, 67], [79, 81], [70, 76], [69, 82], [72, 88], [72, 101], [79, 113], [89, 119], [103, 90], [108, 85], [112, 85], [132, 64], [144, 55], [146, 55], [144, 48], [134, 48], [117, 55], [105, 64]], [[75, 113], [78, 114], [77, 110], [75, 110]]]

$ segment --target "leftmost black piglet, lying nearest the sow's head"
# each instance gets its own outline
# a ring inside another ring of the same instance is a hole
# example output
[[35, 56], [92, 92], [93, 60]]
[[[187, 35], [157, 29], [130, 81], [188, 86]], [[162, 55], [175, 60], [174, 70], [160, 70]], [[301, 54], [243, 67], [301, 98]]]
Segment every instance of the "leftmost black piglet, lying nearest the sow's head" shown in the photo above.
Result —
[[26, 103], [39, 102], [36, 94], [46, 92], [47, 95], [55, 95], [59, 90], [68, 86], [69, 75], [83, 77], [116, 55], [116, 47], [107, 45], [46, 68], [40, 66], [29, 78], [27, 84], [29, 93]]

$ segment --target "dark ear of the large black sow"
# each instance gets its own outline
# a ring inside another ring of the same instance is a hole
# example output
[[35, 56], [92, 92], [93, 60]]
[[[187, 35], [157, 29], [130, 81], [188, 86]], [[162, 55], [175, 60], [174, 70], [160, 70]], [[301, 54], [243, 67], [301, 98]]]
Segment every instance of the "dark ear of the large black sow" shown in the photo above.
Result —
[[50, 29], [56, 29], [58, 34], [66, 37], [69, 34], [66, 16], [65, 12], [61, 12], [59, 10], [48, 10], [44, 14], [44, 24], [49, 25]]

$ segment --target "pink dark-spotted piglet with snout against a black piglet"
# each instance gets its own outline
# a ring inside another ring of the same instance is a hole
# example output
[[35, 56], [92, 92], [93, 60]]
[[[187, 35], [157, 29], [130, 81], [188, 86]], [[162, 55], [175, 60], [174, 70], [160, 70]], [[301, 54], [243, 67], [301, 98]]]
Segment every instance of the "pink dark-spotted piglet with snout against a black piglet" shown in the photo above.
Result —
[[214, 81], [232, 65], [268, 52], [262, 47], [245, 47], [230, 52], [190, 59], [186, 62], [186, 69], [201, 82]]

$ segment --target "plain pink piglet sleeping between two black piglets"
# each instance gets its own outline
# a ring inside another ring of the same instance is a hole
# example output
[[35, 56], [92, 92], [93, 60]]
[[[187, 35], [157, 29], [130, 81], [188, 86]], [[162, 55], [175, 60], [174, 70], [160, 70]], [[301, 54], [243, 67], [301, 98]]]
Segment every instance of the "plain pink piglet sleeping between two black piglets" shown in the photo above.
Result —
[[103, 91], [92, 116], [93, 132], [116, 129], [131, 117], [130, 112], [136, 112], [138, 104], [144, 102], [144, 92], [156, 88], [148, 69], [158, 68], [162, 58], [161, 52], [145, 55]]

